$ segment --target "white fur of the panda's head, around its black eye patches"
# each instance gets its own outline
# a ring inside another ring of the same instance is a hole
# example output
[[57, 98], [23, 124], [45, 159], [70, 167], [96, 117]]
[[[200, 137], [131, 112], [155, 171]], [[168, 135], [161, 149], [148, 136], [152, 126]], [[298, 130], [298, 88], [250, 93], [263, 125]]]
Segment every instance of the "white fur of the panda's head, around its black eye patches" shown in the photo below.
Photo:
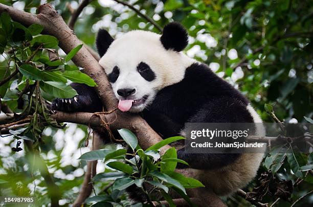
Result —
[[[133, 100], [141, 99], [149, 95], [145, 104], [131, 107], [131, 112], [142, 111], [152, 103], [155, 94], [162, 88], [183, 80], [186, 68], [196, 60], [189, 58], [184, 53], [165, 50], [161, 41], [161, 35], [135, 30], [126, 33], [113, 41], [99, 63], [105, 73], [113, 71], [114, 66], [120, 69], [120, 76], [112, 87], [115, 96], [118, 89], [135, 88], [136, 93], [131, 97]], [[147, 63], [154, 72], [156, 78], [149, 82], [137, 71], [140, 62]]]

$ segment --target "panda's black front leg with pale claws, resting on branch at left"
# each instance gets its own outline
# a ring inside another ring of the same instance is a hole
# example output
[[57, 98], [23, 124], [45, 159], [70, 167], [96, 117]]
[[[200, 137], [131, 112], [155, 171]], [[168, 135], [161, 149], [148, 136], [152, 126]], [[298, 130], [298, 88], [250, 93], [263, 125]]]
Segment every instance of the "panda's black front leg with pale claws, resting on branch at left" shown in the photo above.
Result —
[[102, 111], [102, 103], [95, 89], [81, 83], [72, 83], [77, 96], [69, 99], [57, 98], [53, 100], [51, 109], [65, 112], [98, 112]]

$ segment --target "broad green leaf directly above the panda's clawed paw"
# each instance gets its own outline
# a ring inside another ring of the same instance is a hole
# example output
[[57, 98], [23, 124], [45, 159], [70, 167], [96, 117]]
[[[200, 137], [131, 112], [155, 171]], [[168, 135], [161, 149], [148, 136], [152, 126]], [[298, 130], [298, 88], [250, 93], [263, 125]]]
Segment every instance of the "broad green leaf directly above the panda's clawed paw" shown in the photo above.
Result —
[[70, 85], [61, 82], [41, 81], [40, 88], [57, 98], [73, 98], [77, 95], [76, 90]]

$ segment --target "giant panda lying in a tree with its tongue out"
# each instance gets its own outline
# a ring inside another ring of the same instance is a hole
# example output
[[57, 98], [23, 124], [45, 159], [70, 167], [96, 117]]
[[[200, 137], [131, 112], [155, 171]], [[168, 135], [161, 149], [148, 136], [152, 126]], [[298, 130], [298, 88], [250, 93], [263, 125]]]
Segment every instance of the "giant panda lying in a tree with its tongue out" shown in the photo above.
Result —
[[[166, 25], [163, 34], [130, 31], [118, 39], [100, 29], [96, 46], [121, 111], [139, 113], [164, 139], [184, 134], [189, 123], [261, 123], [249, 101], [210, 68], [182, 51], [188, 44], [185, 28]], [[78, 96], [56, 99], [53, 110], [102, 111], [95, 90], [72, 85]], [[187, 154], [177, 150], [177, 171], [187, 172], [217, 195], [229, 195], [245, 187], [262, 160], [258, 154]]]

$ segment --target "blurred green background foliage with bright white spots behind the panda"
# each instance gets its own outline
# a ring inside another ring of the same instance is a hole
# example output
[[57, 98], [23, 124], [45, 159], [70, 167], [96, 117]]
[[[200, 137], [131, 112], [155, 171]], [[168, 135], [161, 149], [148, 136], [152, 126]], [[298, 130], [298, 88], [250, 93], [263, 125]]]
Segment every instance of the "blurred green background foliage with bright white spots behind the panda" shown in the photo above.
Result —
[[[66, 22], [71, 17], [70, 11], [77, 9], [80, 2], [0, 0], [0, 3], [31, 13], [36, 13], [40, 4], [50, 3]], [[312, 117], [312, 1], [130, 0], [127, 3], [161, 27], [170, 21], [181, 22], [190, 35], [186, 54], [207, 63], [219, 77], [239, 88], [264, 122], [272, 122], [264, 110], [265, 103], [273, 105], [276, 116], [282, 121], [305, 122], [303, 117]], [[112, 0], [91, 1], [79, 16], [74, 31], [84, 43], [95, 49], [95, 35], [99, 28], [107, 29], [115, 38], [135, 29], [160, 33], [133, 10]], [[56, 49], [61, 57], [65, 57], [61, 49]], [[2, 68], [6, 67], [6, 58], [5, 54], [0, 56]], [[7, 94], [10, 93], [14, 91], [8, 87]], [[6, 100], [5, 103], [17, 111], [16, 100]], [[44, 130], [45, 144], [41, 146], [41, 155], [63, 195], [60, 204], [73, 202], [79, 191], [85, 163], [77, 159], [88, 151], [83, 146], [87, 134], [87, 127], [75, 124], [64, 129], [47, 127]], [[48, 203], [43, 178], [30, 170], [32, 157], [25, 156], [24, 151], [11, 152], [15, 146], [16, 140], [1, 137], [0, 195], [26, 196], [35, 190], [40, 195], [38, 203]], [[285, 165], [280, 176], [295, 181], [297, 177], [287, 172], [290, 169]], [[99, 162], [97, 172], [103, 169], [104, 165]], [[261, 167], [260, 171], [264, 170], [265, 167]], [[14, 181], [6, 183], [5, 180]], [[247, 191], [251, 191], [257, 182], [252, 182]], [[308, 183], [312, 183], [312, 179]], [[95, 188], [101, 189], [106, 183], [97, 185]], [[311, 189], [311, 184], [304, 184], [293, 196], [296, 199]], [[272, 196], [263, 198], [263, 202], [274, 200]], [[313, 197], [308, 197], [305, 202], [313, 203]], [[233, 206], [249, 204], [237, 195], [227, 199], [227, 203]], [[287, 202], [280, 201], [280, 204], [287, 205]]]

